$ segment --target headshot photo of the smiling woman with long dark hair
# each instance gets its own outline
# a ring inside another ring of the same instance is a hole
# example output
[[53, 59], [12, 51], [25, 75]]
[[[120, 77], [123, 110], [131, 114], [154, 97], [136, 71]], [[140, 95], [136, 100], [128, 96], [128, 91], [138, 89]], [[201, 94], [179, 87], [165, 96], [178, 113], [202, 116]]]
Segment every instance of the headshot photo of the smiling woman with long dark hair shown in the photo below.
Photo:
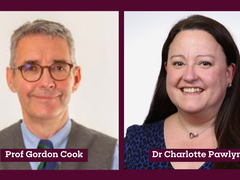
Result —
[[149, 162], [149, 149], [240, 149], [240, 12], [124, 13], [124, 169], [240, 169]]

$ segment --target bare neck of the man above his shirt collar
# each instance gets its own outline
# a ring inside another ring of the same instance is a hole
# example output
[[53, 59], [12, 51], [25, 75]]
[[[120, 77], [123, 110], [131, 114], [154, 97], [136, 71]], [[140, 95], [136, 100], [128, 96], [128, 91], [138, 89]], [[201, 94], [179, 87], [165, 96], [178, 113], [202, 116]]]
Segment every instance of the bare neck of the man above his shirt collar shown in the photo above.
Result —
[[23, 116], [24, 123], [29, 131], [41, 139], [49, 139], [55, 133], [57, 133], [69, 119], [68, 112], [57, 118], [33, 118], [29, 116]]

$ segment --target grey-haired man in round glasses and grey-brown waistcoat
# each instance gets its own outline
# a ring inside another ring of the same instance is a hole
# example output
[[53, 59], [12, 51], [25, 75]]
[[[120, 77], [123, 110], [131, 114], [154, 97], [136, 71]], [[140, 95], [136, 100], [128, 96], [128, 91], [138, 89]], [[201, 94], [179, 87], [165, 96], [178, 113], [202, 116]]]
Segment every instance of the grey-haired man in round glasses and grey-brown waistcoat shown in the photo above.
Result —
[[[59, 23], [36, 20], [14, 32], [7, 82], [23, 119], [0, 132], [0, 149], [36, 149], [47, 140], [55, 149], [88, 149], [88, 162], [59, 162], [55, 169], [118, 169], [116, 139], [69, 117], [81, 80], [74, 53], [72, 35]], [[40, 162], [0, 162], [0, 169], [44, 168]]]

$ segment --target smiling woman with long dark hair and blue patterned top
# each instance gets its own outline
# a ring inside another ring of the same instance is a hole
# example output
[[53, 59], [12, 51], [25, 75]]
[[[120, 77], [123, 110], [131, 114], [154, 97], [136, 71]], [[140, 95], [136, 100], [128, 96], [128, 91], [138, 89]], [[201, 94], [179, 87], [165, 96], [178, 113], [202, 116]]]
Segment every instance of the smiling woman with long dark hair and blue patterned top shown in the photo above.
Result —
[[238, 162], [148, 161], [148, 149], [240, 149], [238, 72], [238, 48], [223, 25], [200, 15], [179, 21], [162, 49], [148, 116], [127, 130], [124, 168], [240, 168]]

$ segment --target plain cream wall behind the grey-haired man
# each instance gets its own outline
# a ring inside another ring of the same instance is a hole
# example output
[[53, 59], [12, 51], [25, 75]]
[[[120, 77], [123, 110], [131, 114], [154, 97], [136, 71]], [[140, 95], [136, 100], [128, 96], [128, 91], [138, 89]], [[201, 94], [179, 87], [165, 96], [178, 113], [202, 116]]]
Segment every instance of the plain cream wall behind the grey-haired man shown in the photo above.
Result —
[[82, 70], [79, 89], [70, 101], [70, 117], [118, 138], [118, 12], [0, 12], [0, 130], [22, 118], [17, 94], [6, 82], [10, 37], [27, 21], [47, 19], [73, 35]]

